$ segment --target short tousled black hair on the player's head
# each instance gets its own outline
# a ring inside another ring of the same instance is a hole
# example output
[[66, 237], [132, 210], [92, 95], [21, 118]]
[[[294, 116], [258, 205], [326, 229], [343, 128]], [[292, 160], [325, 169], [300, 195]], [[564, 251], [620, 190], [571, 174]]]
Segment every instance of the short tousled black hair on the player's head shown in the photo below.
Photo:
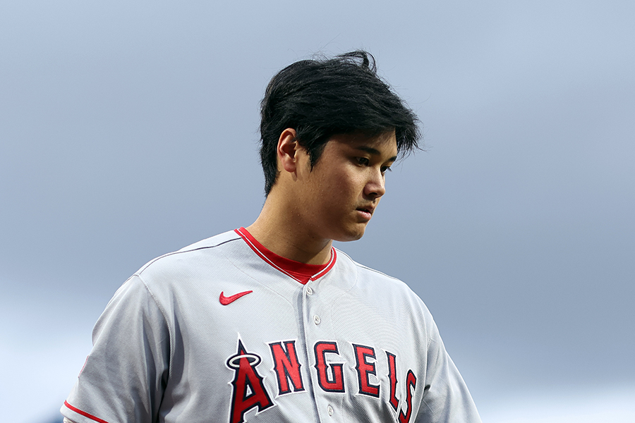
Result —
[[277, 179], [276, 149], [286, 128], [296, 130], [312, 168], [333, 135], [394, 130], [401, 154], [417, 149], [421, 139], [417, 116], [377, 75], [375, 58], [366, 51], [298, 61], [269, 82], [260, 104], [265, 195]]

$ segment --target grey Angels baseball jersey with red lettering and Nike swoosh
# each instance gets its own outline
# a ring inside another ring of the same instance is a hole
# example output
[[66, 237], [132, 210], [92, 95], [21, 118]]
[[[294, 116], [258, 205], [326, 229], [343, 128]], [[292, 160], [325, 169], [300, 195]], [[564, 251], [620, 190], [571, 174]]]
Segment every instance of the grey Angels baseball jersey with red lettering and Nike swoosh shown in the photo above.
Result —
[[76, 423], [480, 422], [405, 283], [335, 248], [325, 266], [291, 262], [244, 228], [123, 283], [61, 412]]

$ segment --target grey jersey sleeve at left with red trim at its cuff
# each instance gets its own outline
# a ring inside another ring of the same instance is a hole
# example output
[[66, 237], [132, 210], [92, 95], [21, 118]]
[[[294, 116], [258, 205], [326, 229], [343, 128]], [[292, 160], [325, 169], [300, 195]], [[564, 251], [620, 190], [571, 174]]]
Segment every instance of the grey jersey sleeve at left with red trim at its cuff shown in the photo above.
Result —
[[152, 423], [168, 381], [171, 331], [139, 276], [117, 290], [61, 413], [75, 423]]

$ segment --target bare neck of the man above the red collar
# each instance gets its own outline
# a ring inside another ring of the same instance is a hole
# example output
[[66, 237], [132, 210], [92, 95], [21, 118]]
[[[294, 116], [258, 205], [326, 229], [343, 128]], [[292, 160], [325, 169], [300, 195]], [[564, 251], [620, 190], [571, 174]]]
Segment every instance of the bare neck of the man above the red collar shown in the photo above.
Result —
[[332, 240], [307, 233], [290, 204], [265, 200], [258, 219], [247, 231], [277, 255], [306, 264], [326, 264], [331, 257]]

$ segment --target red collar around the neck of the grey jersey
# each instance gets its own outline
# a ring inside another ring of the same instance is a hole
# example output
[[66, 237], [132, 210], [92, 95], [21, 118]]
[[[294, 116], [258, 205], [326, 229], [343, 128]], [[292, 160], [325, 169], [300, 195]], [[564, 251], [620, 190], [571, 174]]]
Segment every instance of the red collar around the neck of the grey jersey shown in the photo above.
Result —
[[245, 229], [234, 229], [241, 238], [245, 240], [247, 245], [255, 252], [258, 257], [265, 260], [272, 267], [282, 271], [290, 278], [295, 279], [299, 283], [306, 284], [308, 281], [315, 281], [317, 278], [321, 278], [329, 272], [335, 265], [337, 259], [337, 253], [334, 247], [331, 247], [331, 257], [327, 264], [306, 264], [296, 262], [295, 260], [287, 259], [277, 255], [276, 253], [267, 250], [267, 248], [259, 243], [253, 236]]

